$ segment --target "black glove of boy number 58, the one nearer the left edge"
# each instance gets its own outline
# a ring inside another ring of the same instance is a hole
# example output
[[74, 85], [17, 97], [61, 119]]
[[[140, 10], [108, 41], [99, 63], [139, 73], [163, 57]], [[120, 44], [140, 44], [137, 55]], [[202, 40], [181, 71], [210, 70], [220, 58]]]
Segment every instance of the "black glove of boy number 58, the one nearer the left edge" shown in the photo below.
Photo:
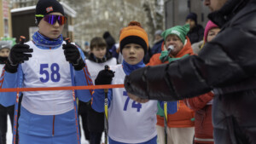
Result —
[[31, 54], [33, 49], [29, 49], [27, 44], [15, 44], [15, 46], [10, 50], [7, 64], [4, 66], [6, 72], [15, 73], [20, 63], [28, 60], [32, 57]]

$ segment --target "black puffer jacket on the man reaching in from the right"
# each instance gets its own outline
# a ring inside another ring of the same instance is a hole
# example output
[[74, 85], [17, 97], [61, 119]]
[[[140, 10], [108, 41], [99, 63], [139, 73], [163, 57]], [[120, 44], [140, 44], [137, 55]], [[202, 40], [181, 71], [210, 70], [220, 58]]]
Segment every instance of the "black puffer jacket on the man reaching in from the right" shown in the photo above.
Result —
[[198, 56], [132, 72], [125, 78], [125, 89], [166, 101], [213, 89], [215, 143], [255, 144], [256, 0], [228, 0], [209, 18], [222, 30]]

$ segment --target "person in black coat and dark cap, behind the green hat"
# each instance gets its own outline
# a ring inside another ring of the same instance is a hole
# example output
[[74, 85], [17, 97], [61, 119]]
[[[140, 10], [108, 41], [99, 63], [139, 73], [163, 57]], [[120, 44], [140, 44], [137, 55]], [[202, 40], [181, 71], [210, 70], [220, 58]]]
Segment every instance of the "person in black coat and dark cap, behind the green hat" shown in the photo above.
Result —
[[205, 29], [197, 23], [197, 14], [189, 13], [186, 17], [186, 24], [190, 26], [190, 31], [187, 36], [191, 44], [203, 40]]

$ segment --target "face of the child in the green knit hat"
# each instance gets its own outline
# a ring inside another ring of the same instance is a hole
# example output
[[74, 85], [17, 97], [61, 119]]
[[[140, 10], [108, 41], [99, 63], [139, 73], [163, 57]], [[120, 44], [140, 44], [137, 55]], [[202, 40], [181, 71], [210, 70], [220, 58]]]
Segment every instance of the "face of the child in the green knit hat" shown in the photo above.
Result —
[[176, 35], [169, 35], [166, 37], [166, 49], [170, 46], [173, 45], [174, 49], [172, 50], [171, 54], [173, 56], [176, 56], [177, 53], [183, 49], [183, 42], [180, 40], [179, 37]]

